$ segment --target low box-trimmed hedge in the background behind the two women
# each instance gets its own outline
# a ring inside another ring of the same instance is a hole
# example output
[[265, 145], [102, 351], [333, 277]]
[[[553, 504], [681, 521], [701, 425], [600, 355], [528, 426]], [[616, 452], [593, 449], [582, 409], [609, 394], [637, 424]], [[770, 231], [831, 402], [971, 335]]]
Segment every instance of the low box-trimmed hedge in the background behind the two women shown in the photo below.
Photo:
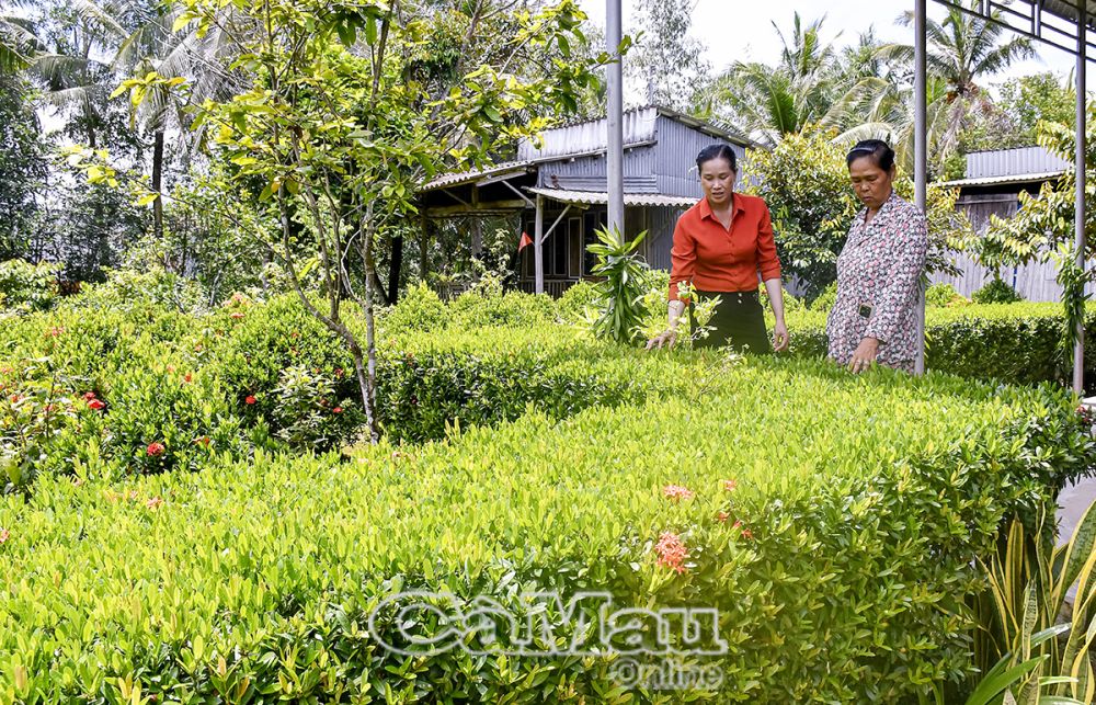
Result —
[[[1061, 382], [1072, 368], [1061, 349], [1062, 307], [1058, 304], [986, 304], [926, 311], [926, 365], [950, 374], [1011, 384]], [[791, 351], [826, 354], [825, 314], [788, 315]], [[1096, 308], [1089, 307], [1086, 337], [1096, 340]], [[1096, 369], [1088, 356], [1086, 374]]]

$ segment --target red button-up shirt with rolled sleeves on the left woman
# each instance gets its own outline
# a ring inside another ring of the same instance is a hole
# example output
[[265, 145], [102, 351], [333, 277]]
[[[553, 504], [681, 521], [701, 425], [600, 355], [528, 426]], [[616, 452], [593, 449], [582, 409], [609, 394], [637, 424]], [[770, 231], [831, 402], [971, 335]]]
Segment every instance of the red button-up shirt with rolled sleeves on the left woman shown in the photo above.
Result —
[[670, 300], [677, 299], [678, 282], [693, 282], [703, 292], [756, 292], [758, 272], [762, 281], [780, 278], [768, 206], [757, 196], [731, 197], [730, 229], [712, 215], [707, 198], [677, 219]]

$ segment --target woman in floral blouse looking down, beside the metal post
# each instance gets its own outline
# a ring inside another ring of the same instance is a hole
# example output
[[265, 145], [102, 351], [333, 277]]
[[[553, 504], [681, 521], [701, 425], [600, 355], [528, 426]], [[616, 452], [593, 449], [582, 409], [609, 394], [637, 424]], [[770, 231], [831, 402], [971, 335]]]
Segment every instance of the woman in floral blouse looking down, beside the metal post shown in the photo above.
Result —
[[894, 193], [894, 151], [887, 143], [861, 141], [846, 162], [866, 207], [837, 258], [837, 300], [826, 319], [830, 357], [854, 373], [871, 363], [912, 373], [928, 249], [925, 216]]

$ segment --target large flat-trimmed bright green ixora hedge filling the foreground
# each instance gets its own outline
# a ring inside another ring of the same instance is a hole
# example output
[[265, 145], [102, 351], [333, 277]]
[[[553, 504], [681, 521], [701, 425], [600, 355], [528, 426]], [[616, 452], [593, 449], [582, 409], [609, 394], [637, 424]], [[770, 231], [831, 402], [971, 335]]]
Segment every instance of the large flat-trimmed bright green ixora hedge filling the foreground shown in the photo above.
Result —
[[710, 354], [601, 372], [635, 365], [688, 382], [0, 500], [0, 701], [665, 702], [630, 674], [673, 663], [711, 676], [682, 698], [917, 702], [969, 675], [975, 558], [1092, 457], [1044, 390]]

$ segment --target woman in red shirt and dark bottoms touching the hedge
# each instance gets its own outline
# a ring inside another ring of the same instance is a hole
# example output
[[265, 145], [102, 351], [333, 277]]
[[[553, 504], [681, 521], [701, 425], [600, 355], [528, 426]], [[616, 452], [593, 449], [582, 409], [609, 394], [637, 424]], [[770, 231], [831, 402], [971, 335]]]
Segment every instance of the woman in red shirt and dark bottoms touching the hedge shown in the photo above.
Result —
[[[734, 193], [735, 162], [734, 151], [727, 145], [712, 145], [696, 158], [704, 198], [678, 218], [674, 229], [670, 325], [647, 343], [648, 350], [676, 341], [686, 305], [677, 295], [677, 285], [683, 282], [693, 284], [700, 296], [720, 297], [709, 322], [715, 330], [697, 341], [698, 348], [730, 344], [755, 353], [788, 348], [773, 221], [764, 201]], [[776, 317], [772, 344], [757, 295], [758, 275]]]

